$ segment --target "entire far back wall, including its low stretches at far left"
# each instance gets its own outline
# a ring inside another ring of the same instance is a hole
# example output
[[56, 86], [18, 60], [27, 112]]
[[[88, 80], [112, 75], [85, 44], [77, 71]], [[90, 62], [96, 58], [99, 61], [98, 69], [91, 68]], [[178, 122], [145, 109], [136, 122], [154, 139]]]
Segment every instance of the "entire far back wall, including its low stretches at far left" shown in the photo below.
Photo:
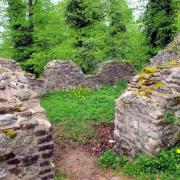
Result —
[[[8, 59], [0, 59], [0, 65], [12, 71], [21, 69], [17, 62]], [[30, 73], [26, 73], [25, 76], [30, 88], [38, 95], [42, 95], [47, 91], [79, 86], [96, 89], [103, 85], [114, 85], [121, 80], [130, 80], [134, 72], [134, 68], [128, 62], [107, 61], [99, 65], [95, 74], [86, 75], [72, 61], [54, 60], [45, 66], [43, 77], [36, 78]]]

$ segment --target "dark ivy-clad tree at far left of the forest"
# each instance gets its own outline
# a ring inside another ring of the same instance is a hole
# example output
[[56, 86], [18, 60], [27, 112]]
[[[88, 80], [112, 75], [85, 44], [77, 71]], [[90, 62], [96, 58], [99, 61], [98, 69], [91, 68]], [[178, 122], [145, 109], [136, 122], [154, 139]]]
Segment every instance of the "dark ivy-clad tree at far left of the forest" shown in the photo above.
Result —
[[[25, 61], [32, 55], [33, 29], [30, 12], [23, 0], [8, 0], [10, 39], [13, 46], [12, 58]], [[27, 16], [28, 14], [28, 16]]]

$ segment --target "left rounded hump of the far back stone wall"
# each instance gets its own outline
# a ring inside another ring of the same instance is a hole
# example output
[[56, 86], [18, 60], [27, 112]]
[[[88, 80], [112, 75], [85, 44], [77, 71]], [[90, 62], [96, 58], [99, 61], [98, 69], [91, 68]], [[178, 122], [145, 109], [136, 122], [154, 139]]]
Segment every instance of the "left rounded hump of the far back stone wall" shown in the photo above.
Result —
[[86, 82], [81, 69], [72, 61], [51, 61], [44, 70], [45, 89], [71, 89]]

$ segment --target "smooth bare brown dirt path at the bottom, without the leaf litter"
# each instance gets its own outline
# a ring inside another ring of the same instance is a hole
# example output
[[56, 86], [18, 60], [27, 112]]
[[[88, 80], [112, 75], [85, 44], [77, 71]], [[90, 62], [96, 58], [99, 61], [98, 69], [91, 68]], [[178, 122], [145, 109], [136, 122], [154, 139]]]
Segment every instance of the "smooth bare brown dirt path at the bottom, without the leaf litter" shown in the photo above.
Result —
[[56, 158], [56, 168], [66, 172], [67, 180], [130, 180], [123, 174], [118, 177], [112, 172], [101, 170], [97, 164], [97, 158], [85, 152], [81, 147], [64, 149], [61, 158]]

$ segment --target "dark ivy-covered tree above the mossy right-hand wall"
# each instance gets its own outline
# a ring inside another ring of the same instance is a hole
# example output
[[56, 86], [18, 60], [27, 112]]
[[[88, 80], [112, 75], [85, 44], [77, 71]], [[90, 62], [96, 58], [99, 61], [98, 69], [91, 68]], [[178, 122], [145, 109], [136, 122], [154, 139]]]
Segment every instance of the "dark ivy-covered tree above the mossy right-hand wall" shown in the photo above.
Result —
[[147, 42], [152, 54], [164, 48], [174, 37], [176, 3], [174, 0], [150, 0], [144, 14]]

